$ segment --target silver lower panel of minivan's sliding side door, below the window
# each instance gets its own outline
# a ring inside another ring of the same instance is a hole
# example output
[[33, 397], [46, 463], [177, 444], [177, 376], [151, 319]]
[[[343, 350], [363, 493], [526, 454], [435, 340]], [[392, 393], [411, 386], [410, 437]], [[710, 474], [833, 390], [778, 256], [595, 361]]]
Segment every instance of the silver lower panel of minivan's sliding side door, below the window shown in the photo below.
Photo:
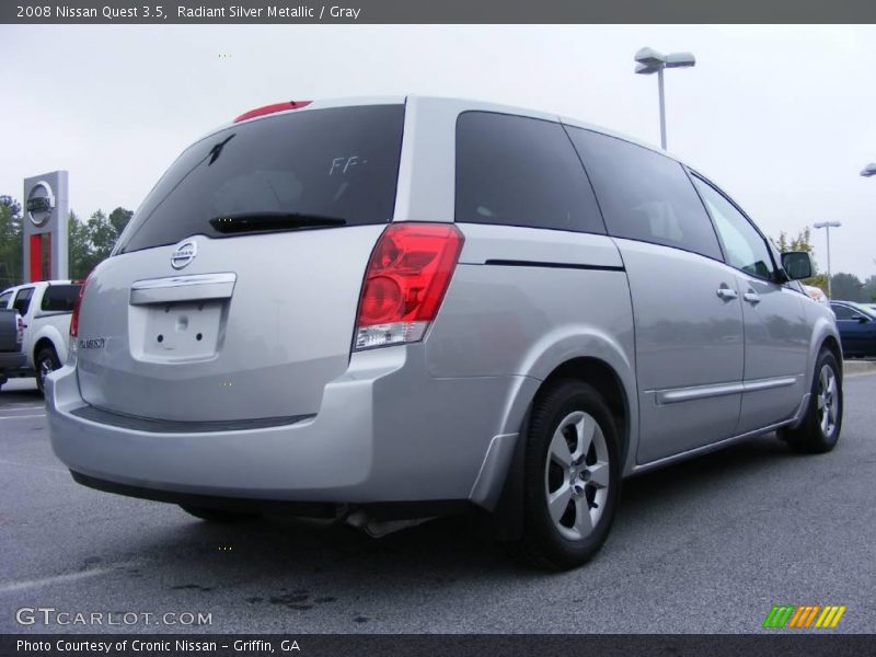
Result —
[[678, 249], [615, 242], [636, 326], [637, 462], [729, 438], [739, 419], [744, 364], [735, 273]]

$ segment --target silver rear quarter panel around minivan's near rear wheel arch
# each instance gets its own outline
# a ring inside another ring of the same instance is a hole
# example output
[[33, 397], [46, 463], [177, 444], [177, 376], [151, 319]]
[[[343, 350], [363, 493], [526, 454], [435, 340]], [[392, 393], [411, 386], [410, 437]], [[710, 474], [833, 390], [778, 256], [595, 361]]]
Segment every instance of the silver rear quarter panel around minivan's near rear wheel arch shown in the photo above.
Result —
[[[602, 360], [626, 391], [633, 434], [629, 453], [634, 454], [638, 420], [633, 313], [623, 262], [612, 240], [565, 231], [457, 226], [465, 245], [427, 336], [429, 373], [521, 376], [540, 382], [573, 358]], [[520, 387], [496, 434], [520, 430], [537, 390], [538, 384]]]

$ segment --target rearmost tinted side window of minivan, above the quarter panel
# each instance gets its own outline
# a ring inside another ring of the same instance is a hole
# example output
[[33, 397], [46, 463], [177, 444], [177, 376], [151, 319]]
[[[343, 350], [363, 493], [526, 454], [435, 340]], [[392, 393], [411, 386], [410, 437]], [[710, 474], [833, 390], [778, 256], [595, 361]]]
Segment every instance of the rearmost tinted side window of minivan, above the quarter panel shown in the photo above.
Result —
[[456, 220], [606, 232], [563, 126], [489, 112], [457, 119]]

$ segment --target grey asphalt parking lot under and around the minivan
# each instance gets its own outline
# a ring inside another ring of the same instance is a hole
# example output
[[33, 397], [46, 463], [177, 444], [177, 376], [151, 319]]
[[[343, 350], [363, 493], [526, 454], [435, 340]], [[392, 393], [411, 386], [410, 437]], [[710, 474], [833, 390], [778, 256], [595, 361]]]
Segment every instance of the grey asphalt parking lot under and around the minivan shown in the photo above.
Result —
[[[845, 604], [835, 631], [874, 632], [874, 399], [876, 374], [846, 379], [829, 454], [768, 436], [627, 481], [596, 560], [545, 574], [464, 518], [376, 541], [293, 519], [212, 527], [83, 488], [51, 452], [42, 397], [13, 381], [0, 392], [0, 632], [758, 632], [780, 603]], [[139, 620], [20, 625], [23, 607]], [[154, 624], [169, 612], [211, 624]]]

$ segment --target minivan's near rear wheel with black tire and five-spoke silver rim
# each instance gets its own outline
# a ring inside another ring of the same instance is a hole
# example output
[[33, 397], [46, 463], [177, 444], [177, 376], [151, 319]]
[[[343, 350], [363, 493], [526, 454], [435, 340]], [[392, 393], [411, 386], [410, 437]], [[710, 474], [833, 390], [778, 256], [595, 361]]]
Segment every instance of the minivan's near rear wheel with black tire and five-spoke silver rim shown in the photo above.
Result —
[[564, 380], [539, 394], [525, 446], [523, 532], [512, 554], [563, 570], [599, 551], [620, 500], [619, 445], [611, 412], [591, 385]]

